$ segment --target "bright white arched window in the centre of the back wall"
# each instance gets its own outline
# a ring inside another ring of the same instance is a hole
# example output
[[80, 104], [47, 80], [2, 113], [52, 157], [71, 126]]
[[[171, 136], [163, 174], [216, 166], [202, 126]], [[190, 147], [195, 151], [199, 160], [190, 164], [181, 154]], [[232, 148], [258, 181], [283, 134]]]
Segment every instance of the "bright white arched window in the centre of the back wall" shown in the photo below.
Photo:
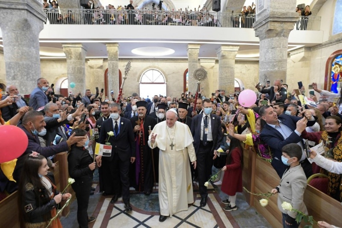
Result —
[[148, 69], [140, 77], [139, 94], [141, 98], [154, 95], [166, 96], [166, 81], [164, 75], [157, 69]]

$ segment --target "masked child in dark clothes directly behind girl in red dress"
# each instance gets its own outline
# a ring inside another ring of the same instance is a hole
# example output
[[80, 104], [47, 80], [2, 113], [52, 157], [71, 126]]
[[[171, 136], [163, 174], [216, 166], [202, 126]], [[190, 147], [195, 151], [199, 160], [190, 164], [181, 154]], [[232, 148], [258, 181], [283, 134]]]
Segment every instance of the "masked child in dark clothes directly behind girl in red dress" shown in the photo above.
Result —
[[[226, 125], [221, 124], [221, 130], [222, 133], [226, 133]], [[218, 169], [222, 169], [223, 166], [226, 165], [226, 160], [227, 160], [227, 153], [226, 151], [229, 149], [229, 145], [231, 144], [231, 140], [229, 139], [229, 137], [227, 137], [227, 135], [224, 135], [222, 138], [222, 142], [220, 145], [220, 148], [216, 151], [214, 150], [215, 155], [220, 153], [220, 157], [214, 157], [214, 166]], [[224, 171], [219, 173], [219, 180], [214, 182], [214, 185], [222, 185], [222, 181], [223, 181], [223, 175], [224, 175]]]

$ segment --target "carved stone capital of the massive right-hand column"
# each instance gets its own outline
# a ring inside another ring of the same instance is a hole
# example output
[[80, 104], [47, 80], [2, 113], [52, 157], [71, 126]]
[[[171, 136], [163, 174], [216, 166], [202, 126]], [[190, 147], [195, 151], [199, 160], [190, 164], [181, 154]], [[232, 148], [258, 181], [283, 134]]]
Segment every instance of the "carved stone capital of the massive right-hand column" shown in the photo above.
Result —
[[265, 14], [254, 22], [255, 36], [260, 40], [274, 37], [289, 37], [294, 23], [299, 20], [298, 13], [272, 12]]

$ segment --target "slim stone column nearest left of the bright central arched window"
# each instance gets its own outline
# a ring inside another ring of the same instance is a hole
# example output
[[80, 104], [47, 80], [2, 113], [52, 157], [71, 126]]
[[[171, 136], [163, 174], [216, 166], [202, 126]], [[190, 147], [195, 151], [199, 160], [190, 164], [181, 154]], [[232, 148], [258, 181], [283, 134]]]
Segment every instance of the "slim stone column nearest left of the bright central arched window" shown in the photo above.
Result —
[[110, 90], [114, 91], [114, 96], [119, 94], [119, 44], [107, 43], [108, 52], [108, 94]]

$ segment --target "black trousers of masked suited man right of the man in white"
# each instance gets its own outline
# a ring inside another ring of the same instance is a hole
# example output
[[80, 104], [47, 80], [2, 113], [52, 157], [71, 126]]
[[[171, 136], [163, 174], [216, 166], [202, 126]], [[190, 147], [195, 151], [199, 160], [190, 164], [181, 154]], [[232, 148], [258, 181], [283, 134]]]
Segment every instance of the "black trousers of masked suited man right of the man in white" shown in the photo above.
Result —
[[196, 169], [198, 172], [199, 194], [201, 195], [201, 197], [208, 196], [207, 187], [204, 186], [204, 183], [208, 181], [209, 177], [211, 176], [211, 168], [214, 163], [212, 146], [213, 142], [208, 142], [208, 144], [204, 146], [201, 141], [198, 152], [196, 154]]

